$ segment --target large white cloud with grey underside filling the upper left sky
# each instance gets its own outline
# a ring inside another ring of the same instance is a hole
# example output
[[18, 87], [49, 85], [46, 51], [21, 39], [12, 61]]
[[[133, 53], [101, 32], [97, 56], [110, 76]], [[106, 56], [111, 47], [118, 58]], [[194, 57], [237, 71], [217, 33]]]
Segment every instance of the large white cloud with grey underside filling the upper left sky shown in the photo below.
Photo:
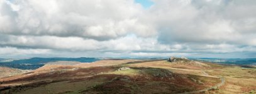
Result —
[[[10, 23], [7, 24], [9, 28], [0, 27], [0, 32], [5, 34], [77, 36], [100, 41], [126, 36], [128, 33], [151, 36], [143, 33], [150, 29], [136, 21], [142, 8], [133, 0], [4, 0], [1, 4], [1, 15], [8, 19], [1, 20], [4, 22], [0, 24], [3, 26], [5, 21]], [[19, 6], [18, 11], [14, 11], [11, 5]]]

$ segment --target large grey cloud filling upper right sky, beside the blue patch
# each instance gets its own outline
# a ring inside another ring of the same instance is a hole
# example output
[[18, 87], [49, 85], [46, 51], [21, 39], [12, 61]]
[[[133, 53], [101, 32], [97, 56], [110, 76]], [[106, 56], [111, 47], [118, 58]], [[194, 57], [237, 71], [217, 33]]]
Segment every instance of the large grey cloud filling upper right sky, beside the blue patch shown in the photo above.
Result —
[[256, 36], [254, 2], [155, 1], [148, 15], [156, 18], [162, 43], [250, 45], [248, 41]]

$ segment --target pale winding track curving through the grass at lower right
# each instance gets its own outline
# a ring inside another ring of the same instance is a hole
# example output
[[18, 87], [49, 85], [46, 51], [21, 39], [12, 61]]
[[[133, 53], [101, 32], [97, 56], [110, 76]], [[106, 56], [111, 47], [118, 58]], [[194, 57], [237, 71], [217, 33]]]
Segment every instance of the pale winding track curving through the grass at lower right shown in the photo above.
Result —
[[[203, 71], [204, 75], [208, 75], [208, 73], [206, 73], [205, 71]], [[204, 88], [203, 90], [197, 90], [197, 91], [191, 91], [191, 92], [184, 92], [184, 93], [179, 93], [179, 94], [190, 94], [190, 93], [200, 93], [200, 92], [204, 92], [204, 91], [208, 91], [211, 89], [216, 89], [222, 85], [224, 85], [225, 83], [225, 78], [222, 76], [219, 76], [219, 78], [221, 79], [221, 83], [218, 83], [217, 85], [211, 86], [209, 88]]]

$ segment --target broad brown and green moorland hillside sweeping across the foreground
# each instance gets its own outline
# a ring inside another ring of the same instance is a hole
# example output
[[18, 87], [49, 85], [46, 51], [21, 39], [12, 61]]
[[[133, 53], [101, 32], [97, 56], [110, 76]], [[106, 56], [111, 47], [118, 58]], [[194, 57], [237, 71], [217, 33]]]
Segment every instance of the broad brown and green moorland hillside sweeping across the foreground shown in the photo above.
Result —
[[[13, 85], [2, 93], [182, 93], [202, 90], [220, 83], [214, 76], [224, 76], [225, 85], [206, 93], [250, 93], [255, 90], [255, 69], [239, 66], [221, 66], [207, 63], [168, 63], [166, 61], [99, 61], [91, 67], [73, 71], [31, 73], [26, 78], [5, 81], [2, 85]], [[116, 63], [115, 63], [116, 62]], [[108, 64], [106, 64], [108, 63]], [[181, 67], [182, 66], [182, 67]], [[130, 70], [116, 71], [121, 67]], [[69, 67], [65, 67], [69, 68]], [[70, 67], [72, 68], [72, 67]], [[57, 68], [55, 68], [57, 69]], [[204, 72], [203, 72], [204, 71]], [[207, 74], [205, 74], [207, 73]], [[18, 85], [17, 83], [23, 83]], [[25, 84], [29, 83], [29, 84]], [[123, 92], [120, 92], [123, 91]]]

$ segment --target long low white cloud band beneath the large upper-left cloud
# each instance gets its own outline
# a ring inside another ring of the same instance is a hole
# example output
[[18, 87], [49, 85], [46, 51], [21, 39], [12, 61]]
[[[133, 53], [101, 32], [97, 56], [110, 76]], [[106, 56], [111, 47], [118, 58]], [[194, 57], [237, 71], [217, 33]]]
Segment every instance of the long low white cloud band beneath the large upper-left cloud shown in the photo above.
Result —
[[107, 41], [96, 41], [79, 37], [58, 36], [14, 36], [1, 35], [1, 46], [16, 48], [40, 48], [67, 51], [132, 51], [132, 50], [168, 50], [169, 46], [158, 44], [155, 38], [138, 38], [129, 35]]

